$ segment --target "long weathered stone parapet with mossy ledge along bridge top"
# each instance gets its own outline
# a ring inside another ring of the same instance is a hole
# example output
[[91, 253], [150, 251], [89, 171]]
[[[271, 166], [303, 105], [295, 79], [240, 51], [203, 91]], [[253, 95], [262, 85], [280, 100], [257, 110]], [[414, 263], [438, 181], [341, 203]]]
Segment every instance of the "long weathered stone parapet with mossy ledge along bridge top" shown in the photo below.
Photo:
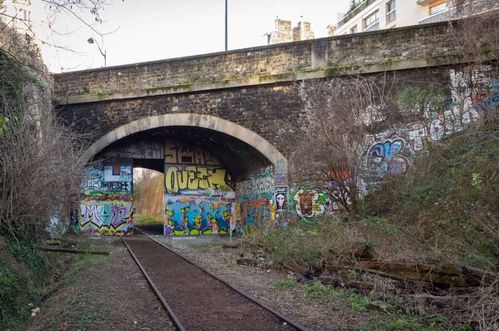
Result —
[[58, 104], [460, 63], [447, 23], [56, 74]]

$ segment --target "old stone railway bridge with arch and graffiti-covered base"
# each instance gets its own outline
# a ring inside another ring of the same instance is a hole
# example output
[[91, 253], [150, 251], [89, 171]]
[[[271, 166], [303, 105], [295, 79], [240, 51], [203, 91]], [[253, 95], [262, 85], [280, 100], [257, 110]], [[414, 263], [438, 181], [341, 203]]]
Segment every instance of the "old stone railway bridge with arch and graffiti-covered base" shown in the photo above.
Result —
[[[93, 134], [89, 158], [101, 160], [72, 226], [129, 233], [134, 166], [165, 173], [165, 234], [250, 233], [282, 212], [334, 210], [287, 185], [293, 146], [279, 120], [299, 124], [295, 83], [398, 71], [451, 86], [460, 62], [451, 27], [437, 23], [57, 74], [59, 114]], [[407, 148], [418, 137], [409, 132]]]

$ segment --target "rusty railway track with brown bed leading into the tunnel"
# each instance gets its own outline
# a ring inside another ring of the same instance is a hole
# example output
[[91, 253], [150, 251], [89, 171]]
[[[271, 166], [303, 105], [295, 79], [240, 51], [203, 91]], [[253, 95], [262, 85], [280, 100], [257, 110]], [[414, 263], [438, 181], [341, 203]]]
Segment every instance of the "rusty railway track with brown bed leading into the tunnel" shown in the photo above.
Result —
[[121, 240], [179, 331], [307, 331], [142, 233]]

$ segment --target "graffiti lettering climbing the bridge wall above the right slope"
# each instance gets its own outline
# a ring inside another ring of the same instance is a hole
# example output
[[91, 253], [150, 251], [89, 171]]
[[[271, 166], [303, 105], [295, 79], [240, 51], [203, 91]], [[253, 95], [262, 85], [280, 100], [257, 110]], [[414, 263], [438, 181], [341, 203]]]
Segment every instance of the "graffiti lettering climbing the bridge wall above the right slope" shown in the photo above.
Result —
[[[490, 68], [483, 68], [484, 72], [488, 70]], [[382, 181], [386, 173], [404, 172], [432, 143], [463, 131], [497, 111], [499, 84], [496, 80], [486, 78], [481, 72], [453, 69], [450, 76], [452, 102], [446, 110], [439, 114], [428, 109], [426, 119], [371, 137], [372, 144], [365, 154], [364, 180], [368, 185]], [[474, 84], [470, 84], [472, 81]]]

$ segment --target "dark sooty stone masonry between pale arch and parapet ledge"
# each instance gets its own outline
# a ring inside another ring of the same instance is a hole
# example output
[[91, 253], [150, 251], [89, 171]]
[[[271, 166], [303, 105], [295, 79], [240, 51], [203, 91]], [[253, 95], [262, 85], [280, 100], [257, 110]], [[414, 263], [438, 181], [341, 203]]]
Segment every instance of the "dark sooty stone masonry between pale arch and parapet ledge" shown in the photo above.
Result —
[[[431, 70], [404, 70], [396, 74], [405, 79], [403, 85], [414, 82], [448, 85], [447, 67]], [[387, 84], [394, 79], [387, 75]], [[397, 86], [402, 88], [403, 85]], [[92, 133], [97, 140], [106, 133], [144, 117], [162, 114], [194, 113], [216, 116], [241, 125], [267, 140], [285, 157], [292, 152], [287, 144], [282, 122], [298, 125], [304, 118], [302, 101], [294, 83], [280, 83], [210, 92], [183, 93], [151, 98], [103, 101], [65, 105], [60, 115], [68, 122], [75, 122], [84, 132]]]

